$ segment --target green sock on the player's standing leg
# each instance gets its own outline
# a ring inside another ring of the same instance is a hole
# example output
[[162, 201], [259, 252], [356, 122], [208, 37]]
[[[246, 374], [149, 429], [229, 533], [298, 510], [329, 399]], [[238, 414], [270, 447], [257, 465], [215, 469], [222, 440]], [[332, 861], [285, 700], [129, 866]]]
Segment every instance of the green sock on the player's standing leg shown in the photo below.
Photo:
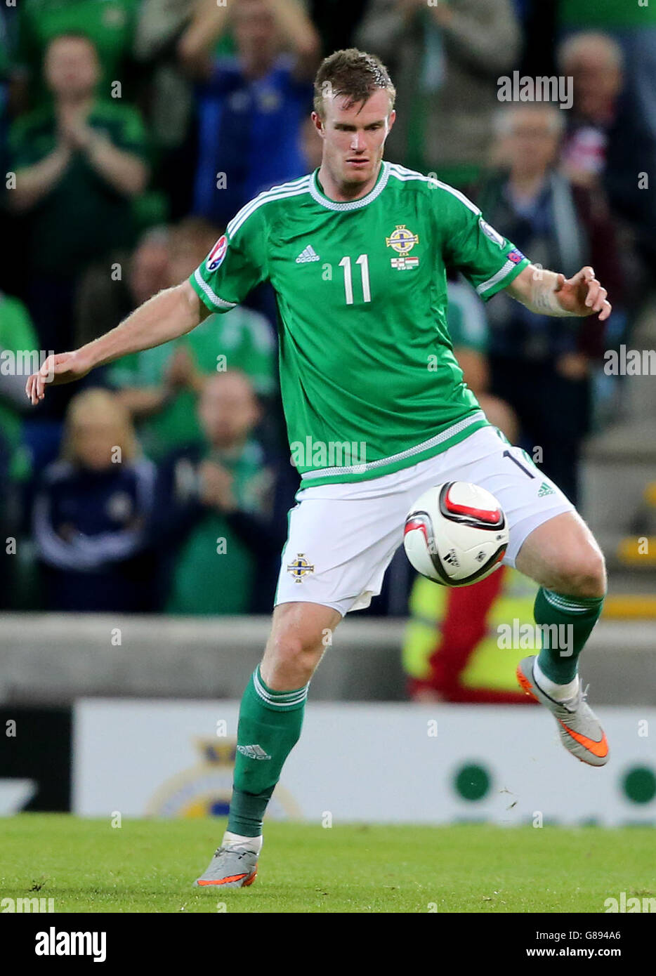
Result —
[[[309, 684], [309, 682], [308, 682]], [[294, 691], [272, 691], [260, 667], [246, 685], [237, 726], [237, 754], [227, 830], [258, 837], [285, 759], [301, 736], [308, 684]]]

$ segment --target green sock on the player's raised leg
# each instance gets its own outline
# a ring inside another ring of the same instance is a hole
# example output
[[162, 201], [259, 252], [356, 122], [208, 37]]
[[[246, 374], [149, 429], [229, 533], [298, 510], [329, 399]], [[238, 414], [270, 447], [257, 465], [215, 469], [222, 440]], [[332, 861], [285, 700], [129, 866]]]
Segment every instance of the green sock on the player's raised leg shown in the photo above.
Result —
[[536, 624], [545, 625], [540, 670], [557, 684], [572, 681], [579, 654], [601, 614], [603, 596], [563, 596], [540, 587], [535, 597]]

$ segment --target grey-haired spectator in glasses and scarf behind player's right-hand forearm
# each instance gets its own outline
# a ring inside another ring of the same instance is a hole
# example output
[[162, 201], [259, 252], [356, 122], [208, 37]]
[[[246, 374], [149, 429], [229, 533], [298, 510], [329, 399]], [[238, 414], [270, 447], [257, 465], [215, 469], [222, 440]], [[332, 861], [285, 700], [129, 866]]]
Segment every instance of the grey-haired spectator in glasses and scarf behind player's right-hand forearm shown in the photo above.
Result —
[[[614, 227], [556, 170], [562, 113], [545, 103], [512, 107], [499, 114], [498, 126], [497, 159], [504, 168], [477, 197], [490, 224], [503, 227], [538, 266], [561, 267], [568, 275], [592, 264], [621, 305]], [[576, 504], [581, 446], [591, 427], [592, 364], [602, 356], [603, 330], [596, 320], [536, 315], [506, 295], [488, 315], [492, 391], [515, 410], [523, 446], [531, 455], [541, 448], [544, 470]]]

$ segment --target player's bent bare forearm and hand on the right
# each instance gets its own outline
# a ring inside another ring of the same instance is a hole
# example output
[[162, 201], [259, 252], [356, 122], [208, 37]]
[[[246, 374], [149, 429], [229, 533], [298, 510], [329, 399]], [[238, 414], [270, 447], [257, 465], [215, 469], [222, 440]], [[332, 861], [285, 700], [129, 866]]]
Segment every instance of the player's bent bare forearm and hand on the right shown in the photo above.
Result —
[[595, 315], [608, 318], [611, 305], [606, 289], [595, 278], [592, 267], [582, 267], [571, 278], [529, 264], [506, 291], [513, 299], [539, 315]]

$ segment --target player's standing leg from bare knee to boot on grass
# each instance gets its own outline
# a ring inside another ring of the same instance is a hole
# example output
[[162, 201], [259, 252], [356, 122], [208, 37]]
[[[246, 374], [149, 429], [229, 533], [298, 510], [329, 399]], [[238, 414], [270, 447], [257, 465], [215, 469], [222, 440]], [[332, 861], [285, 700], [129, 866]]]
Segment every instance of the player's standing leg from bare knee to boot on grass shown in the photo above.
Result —
[[280, 603], [273, 611], [262, 663], [244, 691], [227, 830], [196, 884], [240, 888], [252, 884], [262, 849], [262, 826], [285, 759], [301, 735], [309, 680], [342, 615], [318, 603]]

